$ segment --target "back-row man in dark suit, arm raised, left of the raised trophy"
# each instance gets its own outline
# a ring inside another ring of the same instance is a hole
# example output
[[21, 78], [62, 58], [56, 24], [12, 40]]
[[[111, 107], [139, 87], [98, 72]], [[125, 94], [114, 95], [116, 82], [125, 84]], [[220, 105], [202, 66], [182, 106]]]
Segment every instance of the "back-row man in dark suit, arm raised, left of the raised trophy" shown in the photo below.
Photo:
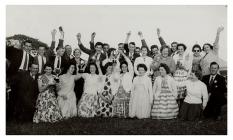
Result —
[[[103, 60], [106, 59], [106, 56], [102, 53], [103, 44], [101, 42], [96, 42], [96, 44], [94, 45], [93, 42], [90, 42], [91, 49], [87, 49], [86, 47], [84, 47], [84, 45], [81, 42], [81, 34], [80, 33], [77, 34], [77, 40], [78, 40], [79, 48], [84, 53], [89, 55], [89, 58], [87, 61], [86, 71], [89, 69], [89, 64], [91, 62], [95, 63], [96, 60], [100, 61], [101, 65], [102, 65]], [[94, 46], [94, 49], [93, 49], [93, 46]], [[103, 70], [103, 67], [101, 69]]]

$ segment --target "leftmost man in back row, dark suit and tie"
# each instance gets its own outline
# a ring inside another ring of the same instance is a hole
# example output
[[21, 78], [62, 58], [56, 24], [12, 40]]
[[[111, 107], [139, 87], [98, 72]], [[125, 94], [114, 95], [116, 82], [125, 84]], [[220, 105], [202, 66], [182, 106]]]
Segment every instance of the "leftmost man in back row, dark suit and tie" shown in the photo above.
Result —
[[33, 57], [30, 55], [32, 42], [26, 40], [22, 45], [22, 50], [13, 46], [6, 48], [6, 58], [10, 63], [6, 74], [10, 79], [14, 77], [18, 71], [28, 71], [28, 67], [33, 63]]

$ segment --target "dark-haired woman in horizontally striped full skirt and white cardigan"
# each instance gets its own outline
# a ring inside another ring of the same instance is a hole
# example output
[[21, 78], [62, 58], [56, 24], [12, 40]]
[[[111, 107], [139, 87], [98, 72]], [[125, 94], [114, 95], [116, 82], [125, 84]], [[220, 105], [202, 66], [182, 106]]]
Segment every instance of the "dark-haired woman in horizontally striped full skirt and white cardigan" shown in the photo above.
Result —
[[160, 76], [154, 82], [154, 102], [151, 116], [153, 119], [174, 119], [178, 115], [178, 104], [176, 102], [177, 89], [174, 79], [169, 76], [169, 67], [160, 64]]

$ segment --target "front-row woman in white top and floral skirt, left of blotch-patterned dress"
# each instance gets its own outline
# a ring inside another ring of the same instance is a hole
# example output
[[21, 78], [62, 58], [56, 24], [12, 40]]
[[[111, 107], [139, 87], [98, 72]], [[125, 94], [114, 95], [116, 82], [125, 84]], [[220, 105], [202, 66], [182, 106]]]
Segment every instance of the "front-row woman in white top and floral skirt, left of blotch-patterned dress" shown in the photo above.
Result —
[[[82, 77], [85, 81], [84, 83], [84, 92], [82, 97], [78, 103], [78, 116], [80, 117], [94, 117], [96, 115], [96, 110], [98, 107], [97, 104], [97, 92], [99, 89], [100, 78], [102, 76], [100, 63], [96, 61], [95, 63], [89, 64], [90, 73], [80, 74], [80, 78]], [[99, 75], [97, 75], [97, 68], [99, 71]]]

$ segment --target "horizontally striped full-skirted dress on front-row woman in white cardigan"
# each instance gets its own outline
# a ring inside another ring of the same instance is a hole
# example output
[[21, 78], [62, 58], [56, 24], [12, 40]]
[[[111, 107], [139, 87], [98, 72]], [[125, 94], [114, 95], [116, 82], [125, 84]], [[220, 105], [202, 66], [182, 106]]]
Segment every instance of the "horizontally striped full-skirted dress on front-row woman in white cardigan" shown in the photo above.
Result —
[[174, 119], [178, 115], [176, 97], [169, 90], [165, 79], [161, 83], [161, 93], [154, 99], [151, 110], [152, 119]]

